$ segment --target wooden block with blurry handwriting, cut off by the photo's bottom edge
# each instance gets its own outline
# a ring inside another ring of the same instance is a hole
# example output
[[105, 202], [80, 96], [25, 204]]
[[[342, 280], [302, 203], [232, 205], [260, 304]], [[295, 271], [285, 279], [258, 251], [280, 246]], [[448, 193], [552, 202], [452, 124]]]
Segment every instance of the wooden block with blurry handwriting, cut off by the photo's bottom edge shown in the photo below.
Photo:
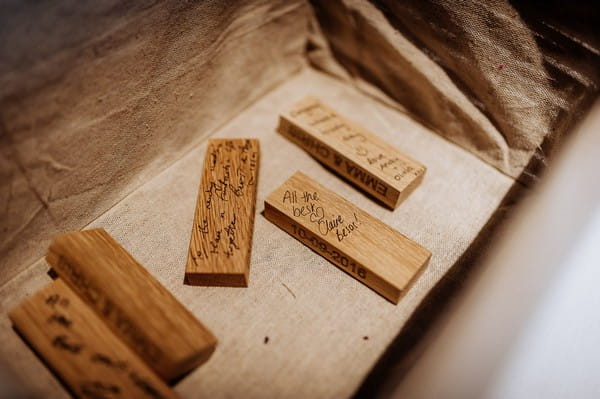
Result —
[[9, 316], [79, 398], [177, 397], [60, 279], [25, 300]]

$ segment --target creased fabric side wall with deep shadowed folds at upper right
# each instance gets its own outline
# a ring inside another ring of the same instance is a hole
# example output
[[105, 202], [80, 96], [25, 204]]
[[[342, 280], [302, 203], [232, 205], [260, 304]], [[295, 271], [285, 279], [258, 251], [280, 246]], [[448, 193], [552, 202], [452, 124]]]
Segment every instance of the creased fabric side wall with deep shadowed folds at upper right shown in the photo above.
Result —
[[525, 183], [598, 93], [600, 19], [589, 2], [311, 3], [313, 65]]

